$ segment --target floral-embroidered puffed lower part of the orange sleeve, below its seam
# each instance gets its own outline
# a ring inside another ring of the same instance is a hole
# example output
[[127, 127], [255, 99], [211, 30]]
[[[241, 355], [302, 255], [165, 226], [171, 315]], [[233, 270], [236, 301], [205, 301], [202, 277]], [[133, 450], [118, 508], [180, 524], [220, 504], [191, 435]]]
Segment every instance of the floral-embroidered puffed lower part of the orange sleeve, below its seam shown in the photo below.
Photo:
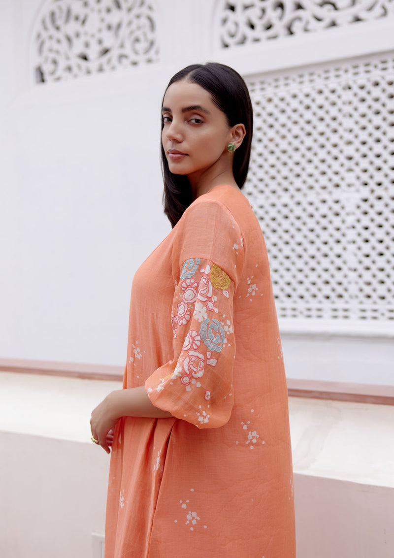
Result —
[[171, 325], [174, 359], [150, 376], [153, 405], [199, 428], [224, 425], [233, 406], [234, 283], [202, 258], [182, 263]]

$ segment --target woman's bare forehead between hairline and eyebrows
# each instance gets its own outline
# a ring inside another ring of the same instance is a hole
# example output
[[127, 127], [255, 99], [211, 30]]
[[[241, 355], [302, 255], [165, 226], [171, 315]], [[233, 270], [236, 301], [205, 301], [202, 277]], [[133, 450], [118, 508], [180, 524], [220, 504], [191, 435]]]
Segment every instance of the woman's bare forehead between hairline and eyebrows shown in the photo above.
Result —
[[200, 105], [209, 111], [219, 110], [206, 89], [197, 83], [190, 83], [186, 79], [175, 81], [175, 83], [169, 86], [164, 95], [163, 106], [171, 110], [193, 107], [195, 105]]

